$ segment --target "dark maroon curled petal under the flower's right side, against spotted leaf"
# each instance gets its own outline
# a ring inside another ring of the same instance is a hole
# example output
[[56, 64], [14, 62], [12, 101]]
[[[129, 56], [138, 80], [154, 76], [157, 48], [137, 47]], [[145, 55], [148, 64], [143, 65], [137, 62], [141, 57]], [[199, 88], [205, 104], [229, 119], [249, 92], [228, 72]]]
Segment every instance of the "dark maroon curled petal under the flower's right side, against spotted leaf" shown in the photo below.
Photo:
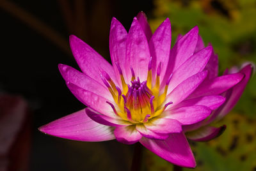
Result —
[[226, 130], [226, 126], [215, 128], [213, 126], [204, 126], [196, 131], [186, 134], [186, 137], [193, 141], [209, 141], [219, 137]]

